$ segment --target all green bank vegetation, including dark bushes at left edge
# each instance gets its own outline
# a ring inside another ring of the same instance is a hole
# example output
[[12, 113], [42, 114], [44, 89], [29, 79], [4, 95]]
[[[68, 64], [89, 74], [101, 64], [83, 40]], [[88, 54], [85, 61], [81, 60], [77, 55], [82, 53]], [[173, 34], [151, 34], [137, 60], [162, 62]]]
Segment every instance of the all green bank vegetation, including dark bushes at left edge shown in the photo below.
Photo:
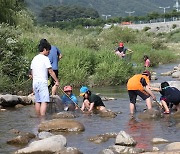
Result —
[[[72, 20], [75, 23], [68, 31], [48, 26], [35, 27], [33, 18], [22, 9], [22, 6], [21, 9], [12, 12], [14, 26], [8, 25], [11, 23], [9, 16], [4, 17], [1, 21], [3, 24], [0, 25], [1, 92], [16, 93], [21, 89], [27, 93], [31, 90], [31, 82], [28, 80], [29, 66], [32, 58], [38, 54], [37, 45], [42, 38], [46, 38], [62, 51], [63, 58], [59, 63], [61, 86], [124, 84], [131, 75], [144, 70], [145, 54], [149, 56], [153, 66], [169, 63], [178, 58], [164, 45], [167, 35], [158, 36], [121, 27], [103, 29], [96, 26], [95, 22], [93, 27], [84, 28], [88, 22], [95, 21], [84, 18]], [[79, 27], [72, 29], [76, 22]], [[104, 24], [103, 20], [98, 22]], [[65, 27], [71, 23], [66, 24]], [[168, 36], [171, 41], [178, 39], [173, 32]], [[124, 59], [119, 59], [114, 54], [114, 49], [120, 41], [134, 51], [127, 54]]]

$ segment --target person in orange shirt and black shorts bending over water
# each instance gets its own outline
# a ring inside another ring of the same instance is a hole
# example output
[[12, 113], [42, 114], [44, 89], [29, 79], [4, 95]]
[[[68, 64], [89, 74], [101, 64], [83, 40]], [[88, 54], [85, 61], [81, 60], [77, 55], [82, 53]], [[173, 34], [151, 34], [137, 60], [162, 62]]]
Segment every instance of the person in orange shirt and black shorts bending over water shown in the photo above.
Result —
[[130, 113], [134, 114], [136, 98], [140, 96], [146, 101], [148, 109], [152, 108], [152, 102], [150, 96], [153, 100], [156, 100], [155, 95], [150, 89], [151, 73], [149, 71], [144, 71], [142, 74], [136, 74], [128, 80], [127, 90], [130, 98]]

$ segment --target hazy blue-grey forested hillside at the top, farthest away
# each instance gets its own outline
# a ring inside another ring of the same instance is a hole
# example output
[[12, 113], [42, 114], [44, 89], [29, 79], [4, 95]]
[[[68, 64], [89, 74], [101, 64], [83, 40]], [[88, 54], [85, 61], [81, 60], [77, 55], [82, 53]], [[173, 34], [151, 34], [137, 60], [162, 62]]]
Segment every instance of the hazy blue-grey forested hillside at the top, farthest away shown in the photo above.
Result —
[[170, 6], [173, 10], [175, 1], [172, 0], [25, 0], [28, 7], [38, 15], [40, 11], [49, 5], [78, 5], [93, 8], [99, 15], [128, 16], [127, 12], [135, 11], [133, 15], [146, 15], [149, 12], [163, 13], [159, 6]]

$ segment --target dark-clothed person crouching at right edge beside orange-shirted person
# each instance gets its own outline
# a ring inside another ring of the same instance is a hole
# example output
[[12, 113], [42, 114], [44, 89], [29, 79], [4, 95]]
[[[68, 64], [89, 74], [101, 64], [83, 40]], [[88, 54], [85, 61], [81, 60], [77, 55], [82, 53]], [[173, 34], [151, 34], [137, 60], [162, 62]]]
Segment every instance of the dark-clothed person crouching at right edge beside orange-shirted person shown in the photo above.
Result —
[[169, 114], [169, 108], [175, 106], [176, 110], [180, 110], [180, 91], [171, 87], [168, 82], [162, 82], [160, 88], [152, 88], [152, 90], [158, 91], [161, 94], [160, 104], [164, 107], [164, 114]]

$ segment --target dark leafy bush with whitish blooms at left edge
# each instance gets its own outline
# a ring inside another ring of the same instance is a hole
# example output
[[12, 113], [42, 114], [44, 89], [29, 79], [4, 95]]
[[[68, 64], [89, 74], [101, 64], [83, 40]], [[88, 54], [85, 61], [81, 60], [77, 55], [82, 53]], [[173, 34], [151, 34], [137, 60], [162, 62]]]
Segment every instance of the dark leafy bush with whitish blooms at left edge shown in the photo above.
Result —
[[0, 25], [0, 91], [20, 90], [18, 85], [27, 79], [29, 60], [18, 40], [21, 32], [6, 24]]

